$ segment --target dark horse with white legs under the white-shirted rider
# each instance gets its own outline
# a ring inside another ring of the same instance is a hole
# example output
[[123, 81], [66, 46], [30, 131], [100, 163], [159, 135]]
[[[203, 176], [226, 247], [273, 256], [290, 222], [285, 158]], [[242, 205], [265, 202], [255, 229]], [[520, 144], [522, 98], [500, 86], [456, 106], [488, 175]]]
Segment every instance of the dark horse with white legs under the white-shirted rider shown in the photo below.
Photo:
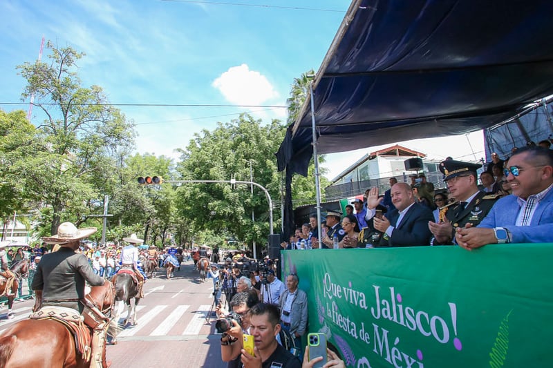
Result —
[[[136, 325], [136, 306], [140, 302], [140, 294], [138, 293], [138, 283], [135, 282], [136, 276], [133, 275], [134, 271], [131, 269], [122, 269], [114, 277], [115, 287], [115, 302], [118, 302], [117, 313], [115, 313], [115, 320], [119, 321], [121, 313], [123, 312], [123, 304], [126, 304], [127, 315], [123, 321], [123, 325], [131, 322], [131, 325]], [[134, 304], [131, 303], [131, 299], [134, 298]], [[117, 340], [112, 340], [113, 344], [117, 343]]]

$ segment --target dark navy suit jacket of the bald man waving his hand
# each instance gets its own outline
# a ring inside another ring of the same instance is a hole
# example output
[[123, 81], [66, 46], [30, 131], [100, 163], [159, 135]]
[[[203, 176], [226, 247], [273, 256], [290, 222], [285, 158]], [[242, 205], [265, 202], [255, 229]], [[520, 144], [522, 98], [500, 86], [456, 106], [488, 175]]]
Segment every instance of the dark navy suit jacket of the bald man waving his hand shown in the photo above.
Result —
[[[395, 207], [386, 214], [390, 224], [395, 227], [400, 212]], [[390, 246], [429, 245], [432, 233], [428, 222], [434, 221], [432, 211], [422, 204], [415, 202], [405, 213], [400, 226], [395, 227], [389, 240]]]

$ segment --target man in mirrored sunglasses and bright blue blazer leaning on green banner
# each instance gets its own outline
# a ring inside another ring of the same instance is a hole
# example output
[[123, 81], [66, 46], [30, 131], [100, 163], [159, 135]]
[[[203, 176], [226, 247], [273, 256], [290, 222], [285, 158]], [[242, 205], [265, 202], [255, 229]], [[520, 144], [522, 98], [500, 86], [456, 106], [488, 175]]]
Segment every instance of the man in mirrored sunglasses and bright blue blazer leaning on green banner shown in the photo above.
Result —
[[553, 151], [540, 146], [521, 148], [508, 165], [505, 177], [513, 194], [498, 200], [477, 227], [457, 230], [456, 240], [463, 248], [551, 241]]

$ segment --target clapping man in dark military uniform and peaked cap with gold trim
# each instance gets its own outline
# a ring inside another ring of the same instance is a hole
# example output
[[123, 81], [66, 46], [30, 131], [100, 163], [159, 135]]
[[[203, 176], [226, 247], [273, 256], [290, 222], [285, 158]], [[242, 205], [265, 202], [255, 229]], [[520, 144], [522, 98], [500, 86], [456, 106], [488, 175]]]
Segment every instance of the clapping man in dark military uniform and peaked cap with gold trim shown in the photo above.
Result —
[[442, 204], [440, 211], [445, 212], [445, 220], [433, 222], [428, 226], [433, 235], [431, 245], [451, 245], [455, 239], [455, 231], [466, 224], [476, 226], [494, 206], [498, 195], [488, 195], [478, 189], [476, 171], [479, 164], [447, 159], [440, 163], [440, 171], [445, 175], [449, 192], [456, 202], [446, 206]]

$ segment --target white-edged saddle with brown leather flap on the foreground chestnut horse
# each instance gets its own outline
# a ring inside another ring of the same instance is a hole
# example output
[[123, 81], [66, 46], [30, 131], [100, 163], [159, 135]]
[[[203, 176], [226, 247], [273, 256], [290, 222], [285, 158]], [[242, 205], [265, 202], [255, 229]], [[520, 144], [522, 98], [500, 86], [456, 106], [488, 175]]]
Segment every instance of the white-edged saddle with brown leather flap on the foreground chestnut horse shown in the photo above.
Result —
[[84, 317], [75, 309], [66, 307], [41, 307], [29, 316], [30, 320], [55, 320], [66, 327], [75, 338], [77, 351], [88, 362], [91, 358], [92, 331], [84, 324]]

